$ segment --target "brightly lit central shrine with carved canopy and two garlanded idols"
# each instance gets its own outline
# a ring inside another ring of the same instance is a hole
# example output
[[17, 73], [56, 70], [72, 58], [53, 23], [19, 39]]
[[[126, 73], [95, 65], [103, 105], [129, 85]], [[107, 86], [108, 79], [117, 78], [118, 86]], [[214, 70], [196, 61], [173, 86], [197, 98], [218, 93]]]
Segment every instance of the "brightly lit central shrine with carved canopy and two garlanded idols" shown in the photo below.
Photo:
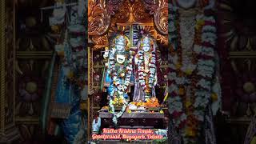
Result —
[[167, 9], [166, 0], [89, 1], [90, 138], [108, 127], [167, 131]]

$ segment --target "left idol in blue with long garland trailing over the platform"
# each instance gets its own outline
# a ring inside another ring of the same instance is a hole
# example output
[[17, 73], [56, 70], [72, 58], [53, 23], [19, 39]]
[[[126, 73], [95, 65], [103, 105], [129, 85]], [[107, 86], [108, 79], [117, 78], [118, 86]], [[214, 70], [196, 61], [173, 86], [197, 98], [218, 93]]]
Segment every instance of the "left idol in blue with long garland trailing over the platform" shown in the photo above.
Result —
[[[117, 35], [110, 50], [106, 50], [104, 54], [104, 58], [107, 57], [104, 86], [108, 86], [110, 113], [114, 115], [113, 122], [117, 124], [117, 118], [121, 117], [126, 110], [129, 101], [127, 93], [133, 76], [133, 54], [130, 50], [129, 38], [122, 34]], [[114, 112], [114, 109], [120, 106], [122, 110], [118, 113]]]

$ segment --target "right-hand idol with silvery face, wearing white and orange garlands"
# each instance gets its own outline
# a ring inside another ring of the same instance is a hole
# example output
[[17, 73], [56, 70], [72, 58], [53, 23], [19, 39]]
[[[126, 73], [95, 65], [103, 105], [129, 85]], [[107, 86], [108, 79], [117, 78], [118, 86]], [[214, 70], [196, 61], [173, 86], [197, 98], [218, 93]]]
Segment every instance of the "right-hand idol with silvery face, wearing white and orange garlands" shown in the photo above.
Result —
[[146, 102], [155, 97], [154, 86], [157, 84], [156, 43], [150, 36], [144, 35], [138, 42], [135, 61], [134, 102]]

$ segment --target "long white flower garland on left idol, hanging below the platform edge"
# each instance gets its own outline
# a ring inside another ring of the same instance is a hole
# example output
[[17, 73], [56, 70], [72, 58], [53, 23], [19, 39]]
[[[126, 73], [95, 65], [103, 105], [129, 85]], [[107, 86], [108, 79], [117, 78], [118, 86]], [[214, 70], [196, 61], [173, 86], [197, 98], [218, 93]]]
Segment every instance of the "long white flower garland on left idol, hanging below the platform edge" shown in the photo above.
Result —
[[[116, 89], [114, 89], [114, 92], [112, 92], [110, 94], [110, 113], [113, 114], [113, 122], [116, 125], [118, 122], [118, 118], [122, 116], [122, 114], [125, 112], [126, 110], [126, 106], [128, 105], [128, 102], [126, 102], [126, 98], [124, 97], [127, 94], [128, 91], [128, 87], [130, 85], [130, 78], [131, 78], [131, 74], [132, 74], [132, 62], [133, 62], [133, 56], [132, 56], [132, 52], [130, 51], [130, 58], [128, 60], [128, 62], [125, 62], [124, 66], [126, 67], [126, 72], [125, 73], [120, 73], [120, 71], [116, 70], [116, 65], [114, 62], [114, 55], [115, 55], [115, 49], [113, 49], [110, 52], [110, 58], [109, 58], [109, 67], [107, 72], [110, 74], [111, 78], [113, 79], [113, 84], [116, 87]], [[125, 81], [122, 83], [121, 79], [125, 77]], [[117, 97], [118, 98], [114, 98], [114, 94], [116, 94], [115, 92], [117, 92]], [[114, 104], [115, 101], [114, 99], [118, 99], [118, 102], [122, 102], [122, 110], [118, 113], [114, 112]]]

